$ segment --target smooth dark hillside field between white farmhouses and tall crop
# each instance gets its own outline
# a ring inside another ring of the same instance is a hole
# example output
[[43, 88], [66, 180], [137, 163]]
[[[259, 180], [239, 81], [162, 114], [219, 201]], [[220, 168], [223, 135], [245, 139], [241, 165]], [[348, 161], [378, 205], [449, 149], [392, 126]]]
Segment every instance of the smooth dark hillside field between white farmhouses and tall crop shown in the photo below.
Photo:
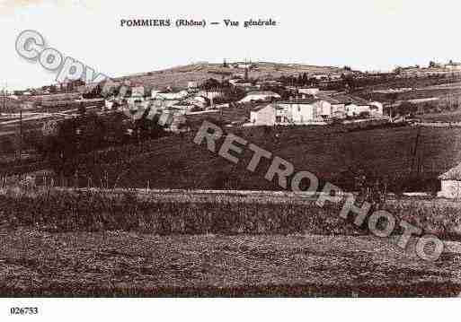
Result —
[[[412, 126], [357, 132], [308, 126], [269, 130], [235, 127], [226, 131], [292, 162], [296, 170], [309, 170], [332, 182], [341, 181], [344, 173], [357, 169], [398, 181], [419, 165], [421, 176], [437, 183], [441, 173], [461, 161], [460, 128], [421, 128], [414, 157], [418, 129]], [[95, 185], [101, 181], [100, 174], [107, 173], [110, 186], [116, 182], [118, 187], [279, 190], [275, 183], [264, 179], [270, 161], [263, 160], [255, 173], [249, 172], [245, 167], [253, 156], [251, 151], [244, 150], [241, 161], [234, 165], [208, 152], [205, 145], [194, 144], [194, 135], [195, 131], [137, 148], [111, 149], [96, 158], [92, 153], [80, 162], [80, 173], [93, 178]], [[85, 186], [86, 182], [81, 184]]]

